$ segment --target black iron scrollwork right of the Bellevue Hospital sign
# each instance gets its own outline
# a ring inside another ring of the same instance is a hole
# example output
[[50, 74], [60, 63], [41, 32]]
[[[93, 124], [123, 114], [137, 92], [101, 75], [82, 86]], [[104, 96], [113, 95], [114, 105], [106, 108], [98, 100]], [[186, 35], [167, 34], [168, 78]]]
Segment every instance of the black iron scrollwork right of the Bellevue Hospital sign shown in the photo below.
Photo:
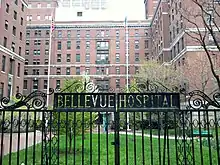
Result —
[[188, 105], [191, 109], [207, 109], [209, 106], [220, 108], [220, 104], [218, 102], [219, 98], [220, 93], [215, 93], [212, 100], [204, 92], [200, 90], [194, 90], [189, 93]]

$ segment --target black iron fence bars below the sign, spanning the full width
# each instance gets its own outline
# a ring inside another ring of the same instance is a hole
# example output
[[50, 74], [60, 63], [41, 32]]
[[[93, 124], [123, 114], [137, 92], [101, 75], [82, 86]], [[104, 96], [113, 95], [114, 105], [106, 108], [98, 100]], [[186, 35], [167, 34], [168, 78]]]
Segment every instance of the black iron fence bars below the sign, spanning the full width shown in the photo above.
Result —
[[3, 110], [0, 164], [220, 164], [219, 110]]

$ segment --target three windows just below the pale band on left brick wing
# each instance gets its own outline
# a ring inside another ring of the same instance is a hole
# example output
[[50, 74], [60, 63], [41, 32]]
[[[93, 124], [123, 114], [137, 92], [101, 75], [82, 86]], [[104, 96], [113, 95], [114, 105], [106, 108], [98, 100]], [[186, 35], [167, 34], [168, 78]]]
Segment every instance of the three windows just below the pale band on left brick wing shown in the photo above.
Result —
[[[14, 66], [15, 66], [15, 61], [10, 58], [9, 62], [6, 60], [6, 56], [2, 56], [2, 72], [6, 72], [6, 64], [9, 63], [9, 74], [14, 75]], [[20, 70], [21, 70], [21, 64], [18, 63], [17, 65], [17, 77], [20, 77]]]

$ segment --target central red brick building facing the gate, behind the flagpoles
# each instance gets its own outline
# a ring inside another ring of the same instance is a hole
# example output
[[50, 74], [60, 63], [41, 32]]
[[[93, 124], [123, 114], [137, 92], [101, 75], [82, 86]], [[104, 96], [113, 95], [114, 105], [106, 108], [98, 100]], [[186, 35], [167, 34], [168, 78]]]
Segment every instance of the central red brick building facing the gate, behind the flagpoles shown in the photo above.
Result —
[[[29, 1], [24, 94], [46, 90], [49, 31], [56, 1]], [[41, 4], [41, 5], [39, 5]], [[50, 5], [48, 5], [50, 4]], [[50, 8], [48, 7], [50, 6]], [[44, 17], [45, 13], [48, 17]], [[41, 15], [40, 15], [41, 14]], [[56, 15], [56, 14], [54, 14]], [[78, 16], [78, 12], [76, 13]], [[48, 18], [48, 19], [47, 19]], [[56, 19], [55, 19], [56, 20]], [[68, 77], [89, 75], [108, 89], [126, 85], [124, 21], [55, 21], [51, 42], [50, 87], [60, 88]], [[129, 21], [129, 80], [143, 60], [150, 58], [149, 23]]]

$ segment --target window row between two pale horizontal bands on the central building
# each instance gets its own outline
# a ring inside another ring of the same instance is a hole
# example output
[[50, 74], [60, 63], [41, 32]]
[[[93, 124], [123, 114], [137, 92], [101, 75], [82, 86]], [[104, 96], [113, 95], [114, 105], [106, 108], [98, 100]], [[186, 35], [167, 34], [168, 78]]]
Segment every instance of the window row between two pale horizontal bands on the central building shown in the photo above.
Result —
[[[56, 68], [56, 75], [61, 75], [61, 73], [62, 73], [61, 70], [62, 70], [61, 68]], [[65, 68], [65, 70], [66, 70], [66, 75], [72, 74], [70, 67]], [[125, 67], [125, 70], [126, 70], [126, 67]], [[86, 71], [87, 74], [90, 74], [90, 68], [89, 67], [86, 67], [85, 71]], [[109, 72], [109, 70], [106, 67], [96, 67], [96, 75], [106, 75], [106, 74], [109, 74], [108, 72]], [[115, 73], [116, 74], [121, 74], [121, 68], [120, 67], [115, 67]], [[139, 73], [139, 68], [135, 67], [135, 74], [137, 74], [137, 73]], [[130, 74], [130, 67], [128, 69], [128, 74]], [[28, 75], [28, 70], [27, 69], [25, 69], [24, 75]], [[33, 69], [32, 70], [32, 75], [40, 75], [40, 69]], [[48, 75], [48, 69], [44, 69], [44, 75]], [[75, 75], [80, 75], [80, 67], [76, 67]]]

